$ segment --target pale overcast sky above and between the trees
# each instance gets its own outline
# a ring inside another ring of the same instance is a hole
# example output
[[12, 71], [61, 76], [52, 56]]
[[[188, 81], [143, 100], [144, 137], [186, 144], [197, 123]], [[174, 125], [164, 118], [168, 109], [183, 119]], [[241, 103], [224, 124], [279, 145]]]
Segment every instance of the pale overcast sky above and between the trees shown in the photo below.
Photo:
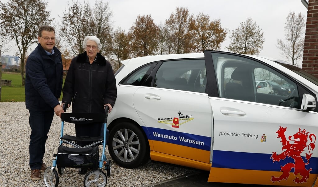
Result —
[[[7, 0], [1, 0], [6, 2]], [[74, 2], [77, 2], [76, 0]], [[84, 0], [78, 0], [83, 3]], [[95, 1], [89, 1], [93, 7]], [[156, 24], [165, 23], [171, 13], [175, 13], [177, 7], [184, 7], [195, 16], [201, 12], [209, 15], [211, 20], [220, 19], [223, 28], [232, 31], [251, 17], [264, 32], [264, 47], [260, 56], [267, 56], [286, 60], [277, 49], [277, 39], [284, 39], [284, 26], [288, 13], [301, 13], [307, 18], [307, 9], [301, 0], [109, 0], [109, 8], [113, 13], [114, 28], [128, 31], [138, 15], [151, 15]], [[307, 0], [308, 2], [308, 0]], [[50, 0], [47, 10], [51, 11], [51, 17], [59, 20], [72, 0]], [[225, 42], [221, 45], [222, 51], [227, 51], [225, 46], [230, 43], [230, 34], [227, 34]], [[33, 50], [34, 47], [30, 50]], [[12, 55], [13, 52], [4, 53]]]

